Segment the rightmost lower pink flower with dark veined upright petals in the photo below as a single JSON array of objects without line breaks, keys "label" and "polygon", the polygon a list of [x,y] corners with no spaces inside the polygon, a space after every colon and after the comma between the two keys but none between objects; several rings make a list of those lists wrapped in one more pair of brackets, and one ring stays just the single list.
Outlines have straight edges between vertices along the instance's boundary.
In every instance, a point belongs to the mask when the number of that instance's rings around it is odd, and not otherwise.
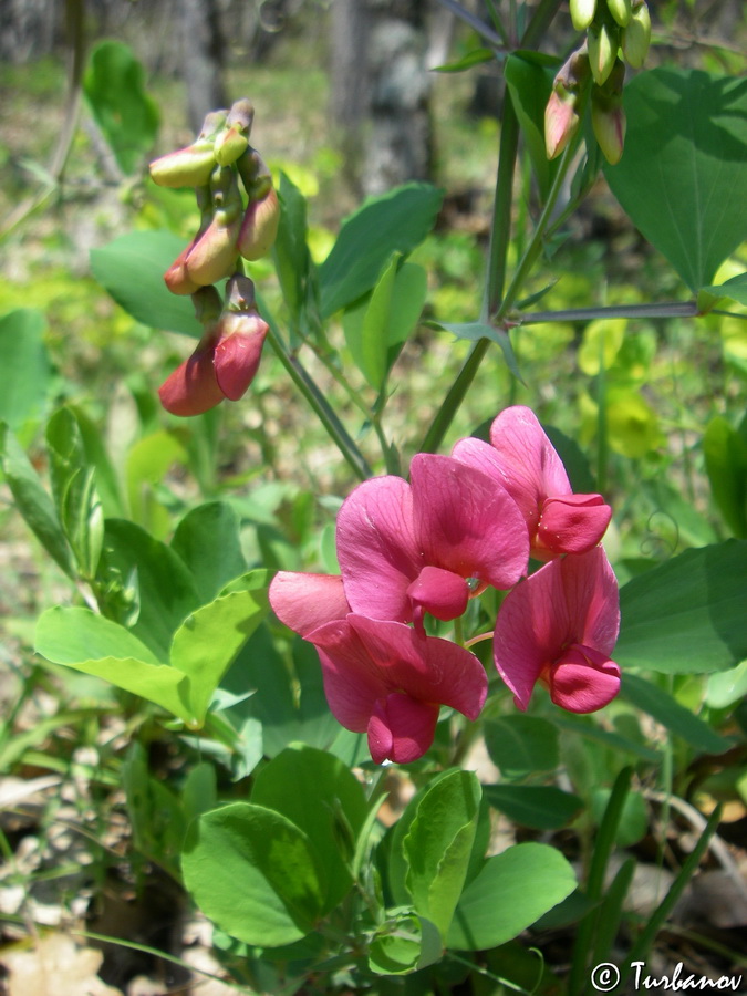
[{"label": "rightmost lower pink flower with dark veined upright petals", "polygon": [[540,681],[556,705],[593,713],[620,689],[620,667],[610,660],[619,629],[618,582],[594,547],[544,564],[506,596],[496,666],[522,710]]}]

